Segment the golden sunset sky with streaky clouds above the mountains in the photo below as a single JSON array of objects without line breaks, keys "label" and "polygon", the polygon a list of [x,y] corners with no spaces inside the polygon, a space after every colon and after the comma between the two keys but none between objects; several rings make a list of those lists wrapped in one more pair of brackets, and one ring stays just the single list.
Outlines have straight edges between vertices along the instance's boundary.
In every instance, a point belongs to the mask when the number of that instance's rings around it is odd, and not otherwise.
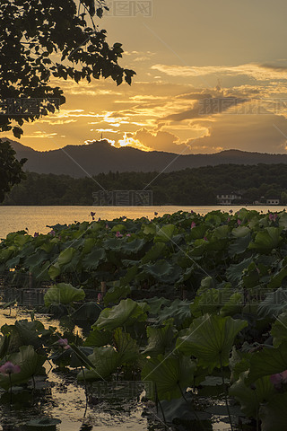
[{"label": "golden sunset sky with streaky clouds above the mountains", "polygon": [[146,151],[286,153],[285,0],[107,3],[100,28],[123,43],[120,64],[135,70],[133,84],[58,81],[65,105],[25,124],[23,145],[45,151],[102,133],[111,145]]}]

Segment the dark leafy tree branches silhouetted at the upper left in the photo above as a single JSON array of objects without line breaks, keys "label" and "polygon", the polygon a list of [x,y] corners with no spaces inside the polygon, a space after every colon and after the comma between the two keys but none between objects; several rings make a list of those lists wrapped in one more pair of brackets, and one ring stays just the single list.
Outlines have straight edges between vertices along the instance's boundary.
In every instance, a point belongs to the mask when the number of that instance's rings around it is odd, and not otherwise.
[{"label": "dark leafy tree branches silhouetted at the upper left", "polygon": [[[131,84],[135,72],[118,64],[121,44],[109,46],[106,31],[95,23],[104,9],[103,0],[1,0],[0,132],[12,131],[20,138],[25,121],[65,103],[53,78],[90,83],[92,78],[111,77],[117,85],[123,80]],[[7,144],[0,140],[0,147],[4,154]],[[0,163],[9,169],[3,159]],[[1,182],[0,196],[7,187]]]}]

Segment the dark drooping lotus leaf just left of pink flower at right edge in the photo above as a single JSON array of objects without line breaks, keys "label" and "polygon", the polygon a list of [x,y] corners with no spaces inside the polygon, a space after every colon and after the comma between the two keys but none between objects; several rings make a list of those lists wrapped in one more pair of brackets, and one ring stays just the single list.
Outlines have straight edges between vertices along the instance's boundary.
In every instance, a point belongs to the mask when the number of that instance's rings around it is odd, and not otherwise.
[{"label": "dark drooping lotus leaf just left of pink flower at right edge", "polygon": [[230,395],[239,401],[242,412],[248,416],[257,418],[257,412],[261,403],[272,400],[275,395],[274,385],[270,382],[270,376],[261,377],[255,383],[255,389],[251,389],[245,383],[248,371],[241,373],[239,380],[230,386]]}]

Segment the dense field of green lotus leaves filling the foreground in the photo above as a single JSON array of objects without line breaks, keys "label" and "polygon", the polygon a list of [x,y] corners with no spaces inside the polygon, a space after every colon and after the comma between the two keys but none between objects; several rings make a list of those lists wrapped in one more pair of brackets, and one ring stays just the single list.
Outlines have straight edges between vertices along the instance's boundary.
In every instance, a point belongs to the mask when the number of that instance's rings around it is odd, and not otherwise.
[{"label": "dense field of green lotus leaves filling the foreground", "polygon": [[179,211],[10,233],[0,272],[48,286],[40,312],[85,322],[63,335],[32,312],[1,328],[11,403],[13,387],[49,361],[76,374],[87,400],[100,382],[138,383],[160,418],[151,429],[212,430],[204,397],[216,392],[225,429],[286,431],[285,212]]}]

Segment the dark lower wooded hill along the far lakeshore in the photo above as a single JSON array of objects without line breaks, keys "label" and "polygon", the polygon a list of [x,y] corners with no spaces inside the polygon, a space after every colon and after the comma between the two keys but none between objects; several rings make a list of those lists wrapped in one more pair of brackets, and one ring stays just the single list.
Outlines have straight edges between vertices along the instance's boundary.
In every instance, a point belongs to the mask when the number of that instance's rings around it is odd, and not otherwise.
[{"label": "dark lower wooded hill along the far lakeshore", "polygon": [[[4,205],[92,205],[100,190],[152,190],[154,205],[213,205],[216,195],[240,192],[240,203],[280,198],[287,204],[287,164],[222,164],[178,172],[109,172],[74,179],[29,172]],[[264,200],[264,199],[263,199]]]}]

